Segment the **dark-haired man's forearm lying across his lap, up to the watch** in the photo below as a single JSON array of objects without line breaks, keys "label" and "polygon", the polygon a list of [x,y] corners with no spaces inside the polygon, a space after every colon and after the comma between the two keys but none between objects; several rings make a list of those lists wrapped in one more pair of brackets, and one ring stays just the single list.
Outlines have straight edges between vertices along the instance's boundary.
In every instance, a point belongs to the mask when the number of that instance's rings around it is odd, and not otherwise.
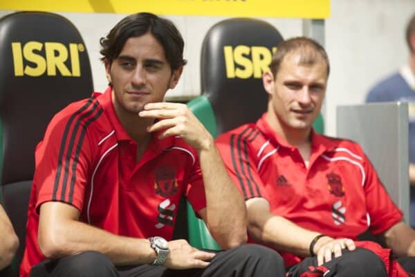
[{"label": "dark-haired man's forearm lying across his lap, up to the watch", "polygon": [[75,220],[63,220],[54,225],[47,233],[42,233],[39,228],[39,247],[46,258],[98,251],[107,255],[115,265],[147,264],[156,259],[147,239],[114,235]]}]

